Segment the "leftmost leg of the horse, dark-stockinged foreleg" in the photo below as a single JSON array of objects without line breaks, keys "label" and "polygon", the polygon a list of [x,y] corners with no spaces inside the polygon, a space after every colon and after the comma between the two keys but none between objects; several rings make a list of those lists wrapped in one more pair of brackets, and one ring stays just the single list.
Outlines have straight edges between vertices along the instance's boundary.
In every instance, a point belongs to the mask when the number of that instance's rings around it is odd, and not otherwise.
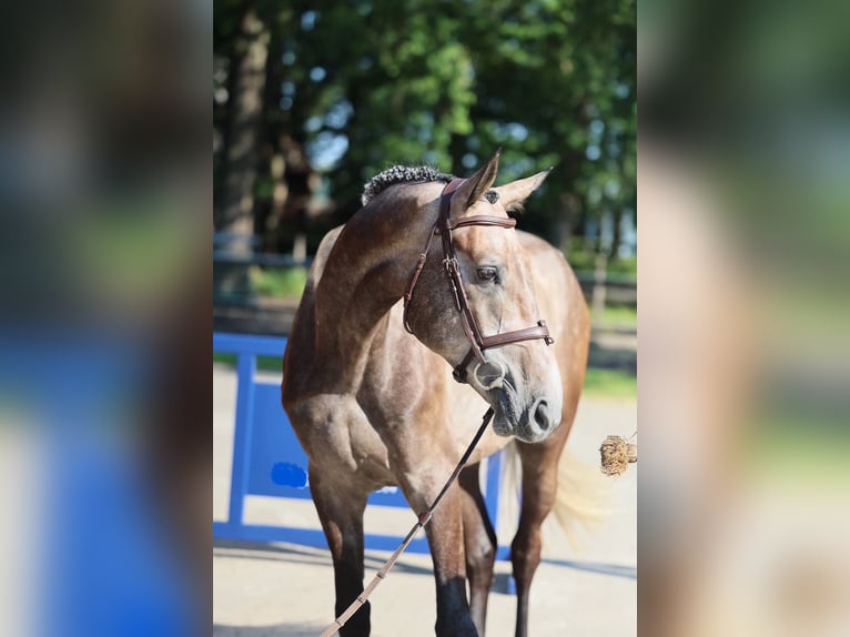
[{"label": "leftmost leg of the horse, dark-stockinged foreleg", "polygon": [[[330,481],[320,471],[310,469],[310,491],[327,538],[334,564],[338,617],[363,593],[363,512],[367,494],[346,481]],[[342,637],[368,637],[370,604],[366,601],[342,627]]]}]

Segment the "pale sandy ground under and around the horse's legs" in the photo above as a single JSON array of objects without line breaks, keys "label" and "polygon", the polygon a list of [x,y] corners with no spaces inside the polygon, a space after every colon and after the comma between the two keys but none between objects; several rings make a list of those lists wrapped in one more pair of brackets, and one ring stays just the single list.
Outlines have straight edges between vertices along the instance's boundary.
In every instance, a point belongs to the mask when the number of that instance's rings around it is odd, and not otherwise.
[{"label": "pale sandy ground under and around the horse's legs", "polygon": [[[235,410],[235,374],[213,367],[213,517],[224,519],[229,497]],[[608,434],[629,436],[637,426],[634,402],[584,400],[568,448],[596,465]],[[532,587],[534,637],[624,637],[637,631],[637,466],[618,478],[604,478],[611,513],[580,538],[574,549],[553,520],[544,527],[544,562]],[[366,530],[403,535],[413,514],[374,507]],[[504,519],[506,516],[502,516]],[[246,520],[318,528],[310,502],[250,498]],[[512,529],[499,525],[499,543]],[[366,552],[366,578],[387,557]],[[510,564],[496,565],[487,635],[514,634],[516,598],[507,594]],[[216,542],[213,549],[213,635],[216,637],[317,636],[333,620],[333,574],[326,550],[275,544]],[[434,635],[436,610],[431,558],[403,555],[372,596],[376,637]]]}]

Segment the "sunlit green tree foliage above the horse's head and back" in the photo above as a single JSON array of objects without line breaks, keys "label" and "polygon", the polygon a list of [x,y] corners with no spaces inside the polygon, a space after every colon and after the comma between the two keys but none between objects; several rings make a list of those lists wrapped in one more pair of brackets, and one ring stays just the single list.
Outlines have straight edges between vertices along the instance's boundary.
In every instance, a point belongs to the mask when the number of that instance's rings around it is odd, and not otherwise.
[{"label": "sunlit green tree foliage above the horse's head and back", "polygon": [[[216,85],[245,4],[216,2]],[[522,224],[556,243],[588,215],[636,208],[635,0],[255,7],[272,33],[269,144],[305,144],[337,221],[389,164],[466,175],[499,146],[499,182],[555,166]]]}]

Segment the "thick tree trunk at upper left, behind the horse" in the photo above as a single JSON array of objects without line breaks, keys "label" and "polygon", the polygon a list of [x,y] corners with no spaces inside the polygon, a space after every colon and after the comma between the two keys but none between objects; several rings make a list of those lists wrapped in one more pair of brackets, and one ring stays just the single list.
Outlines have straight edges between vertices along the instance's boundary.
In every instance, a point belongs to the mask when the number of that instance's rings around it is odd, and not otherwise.
[{"label": "thick tree trunk at upper left, behind the horse", "polygon": [[[222,201],[216,230],[226,233],[220,245],[232,254],[250,255],[254,234],[254,182],[260,155],[260,129],[263,120],[265,62],[269,55],[269,31],[257,18],[253,2],[244,6],[236,44],[237,63],[231,85],[230,113],[222,174]],[[241,57],[239,57],[241,53]],[[234,60],[234,62],[236,61]],[[245,265],[220,264],[214,272],[216,295],[244,296],[249,292]]]}]

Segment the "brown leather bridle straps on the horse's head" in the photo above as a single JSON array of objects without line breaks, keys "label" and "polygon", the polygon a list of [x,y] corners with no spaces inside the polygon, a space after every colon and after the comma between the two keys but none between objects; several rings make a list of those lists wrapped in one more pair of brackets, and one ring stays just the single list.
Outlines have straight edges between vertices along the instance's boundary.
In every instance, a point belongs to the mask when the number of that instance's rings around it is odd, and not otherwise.
[{"label": "brown leather bridle straps on the horse's head", "polygon": [[404,295],[404,327],[407,332],[413,334],[413,330],[411,330],[411,325],[407,323],[407,312],[411,306],[411,300],[413,299],[413,291],[416,287],[416,282],[419,280],[419,274],[422,274],[422,270],[425,266],[425,260],[427,259],[428,250],[431,249],[431,241],[434,239],[435,234],[439,234],[439,237],[443,241],[443,267],[445,269],[446,276],[452,285],[452,293],[455,296],[455,305],[457,306],[458,312],[461,312],[461,324],[464,327],[464,333],[470,345],[469,352],[464,356],[461,364],[452,372],[452,375],[458,383],[466,382],[466,367],[473,362],[473,358],[478,358],[482,363],[485,362],[484,350],[502,347],[522,341],[534,341],[536,338],[543,338],[547,345],[552,345],[555,342],[552,336],[549,336],[549,328],[544,321],[538,321],[537,325],[534,327],[524,327],[523,330],[503,332],[492,336],[482,334],[478,323],[475,320],[475,315],[469,307],[469,300],[466,296],[466,291],[464,290],[461,265],[457,262],[457,253],[455,252],[455,246],[452,242],[452,231],[457,230],[458,228],[466,228],[467,225],[493,225],[510,229],[516,225],[516,220],[476,214],[457,221],[452,221],[449,218],[452,196],[464,181],[466,180],[454,179],[443,189],[443,193],[439,196],[439,216],[434,224],[434,231],[428,236],[428,243],[425,245],[425,250],[419,254],[416,270],[411,277],[407,293]]}]

